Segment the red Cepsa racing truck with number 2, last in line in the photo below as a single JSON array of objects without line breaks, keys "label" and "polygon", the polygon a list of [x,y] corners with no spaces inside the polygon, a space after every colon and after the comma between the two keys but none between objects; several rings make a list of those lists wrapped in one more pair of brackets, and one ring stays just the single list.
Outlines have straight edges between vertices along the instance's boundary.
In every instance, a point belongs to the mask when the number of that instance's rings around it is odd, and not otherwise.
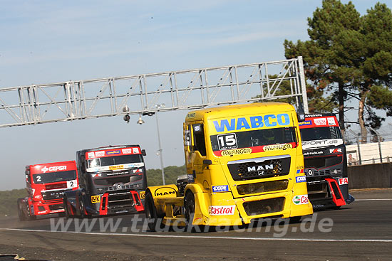
[{"label": "red Cepsa racing truck with number 2, last in line", "polygon": [[29,196],[18,199],[19,220],[34,220],[53,213],[62,215],[63,193],[78,188],[76,162],[29,165],[25,173]]}]

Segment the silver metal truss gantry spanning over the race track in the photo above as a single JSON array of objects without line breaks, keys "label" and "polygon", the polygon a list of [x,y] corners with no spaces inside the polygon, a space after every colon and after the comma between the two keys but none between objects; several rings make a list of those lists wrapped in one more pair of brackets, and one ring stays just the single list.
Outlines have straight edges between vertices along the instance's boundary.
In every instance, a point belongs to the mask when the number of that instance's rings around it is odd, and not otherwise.
[{"label": "silver metal truss gantry spanning over the race track", "polygon": [[[0,127],[287,97],[294,97],[297,107],[302,102],[308,112],[301,56],[266,63],[1,88]],[[127,112],[123,110],[125,105]]]}]

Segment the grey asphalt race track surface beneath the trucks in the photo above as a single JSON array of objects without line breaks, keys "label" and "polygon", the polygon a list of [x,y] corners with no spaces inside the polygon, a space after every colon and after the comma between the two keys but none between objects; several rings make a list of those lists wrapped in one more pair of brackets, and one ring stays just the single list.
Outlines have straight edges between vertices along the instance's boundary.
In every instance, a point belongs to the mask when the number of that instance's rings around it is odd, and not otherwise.
[{"label": "grey asphalt race track surface beneath the trucks", "polygon": [[349,206],[315,212],[302,223],[205,233],[150,232],[144,215],[1,219],[0,254],[26,260],[392,260],[392,189],[351,194],[356,201]]}]

